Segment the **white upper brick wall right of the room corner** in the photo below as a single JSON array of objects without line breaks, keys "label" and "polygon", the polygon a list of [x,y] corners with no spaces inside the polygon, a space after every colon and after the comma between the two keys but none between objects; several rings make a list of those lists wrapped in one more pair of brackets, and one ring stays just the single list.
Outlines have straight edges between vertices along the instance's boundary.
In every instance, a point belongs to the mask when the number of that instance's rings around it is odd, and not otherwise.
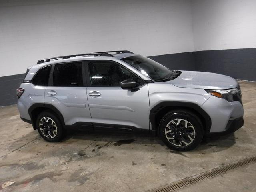
[{"label": "white upper brick wall right of the room corner", "polygon": [[195,51],[256,47],[256,0],[192,0]]}]

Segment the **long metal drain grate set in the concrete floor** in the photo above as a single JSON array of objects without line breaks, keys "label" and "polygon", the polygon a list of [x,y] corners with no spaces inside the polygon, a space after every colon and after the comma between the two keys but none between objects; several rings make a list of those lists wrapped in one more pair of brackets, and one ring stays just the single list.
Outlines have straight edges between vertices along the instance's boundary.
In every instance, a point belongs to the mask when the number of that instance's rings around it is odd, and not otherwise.
[{"label": "long metal drain grate set in the concrete floor", "polygon": [[245,159],[242,159],[242,160],[239,160],[239,161],[236,161],[236,162],[232,162],[232,163],[227,164],[225,166],[214,168],[212,170],[200,173],[198,175],[194,175],[194,176],[188,177],[186,179],[179,180],[177,182],[162,186],[160,188],[149,190],[148,192],[172,192],[172,191],[176,191],[176,190],[179,190],[181,188],[191,186],[191,185],[196,184],[198,182],[201,182],[203,180],[210,179],[210,178],[216,177],[218,175],[225,174],[225,173],[227,173],[227,172],[229,172],[233,169],[236,169],[236,168],[239,168],[239,167],[242,167],[242,166],[246,166],[246,165],[249,165],[249,164],[252,164],[252,163],[255,163],[255,162],[256,162],[256,156],[245,158]]}]

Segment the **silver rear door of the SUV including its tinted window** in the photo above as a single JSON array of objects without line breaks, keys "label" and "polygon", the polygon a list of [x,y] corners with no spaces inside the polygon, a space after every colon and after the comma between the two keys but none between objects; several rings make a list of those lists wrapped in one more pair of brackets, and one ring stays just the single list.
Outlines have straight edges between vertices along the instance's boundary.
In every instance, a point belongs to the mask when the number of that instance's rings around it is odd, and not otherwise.
[{"label": "silver rear door of the SUV including its tinted window", "polygon": [[55,106],[63,115],[66,125],[81,122],[92,125],[83,62],[53,65],[44,95],[44,103]]}]

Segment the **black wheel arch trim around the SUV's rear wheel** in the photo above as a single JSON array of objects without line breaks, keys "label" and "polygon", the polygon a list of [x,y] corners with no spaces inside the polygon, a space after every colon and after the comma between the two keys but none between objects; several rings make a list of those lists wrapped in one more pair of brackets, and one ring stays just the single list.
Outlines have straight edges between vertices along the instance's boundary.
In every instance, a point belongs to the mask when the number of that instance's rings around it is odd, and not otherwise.
[{"label": "black wheel arch trim around the SUV's rear wheel", "polygon": [[28,109],[28,114],[31,118],[34,130],[36,130],[36,117],[42,111],[45,111],[45,110],[52,111],[56,116],[58,116],[62,125],[65,125],[64,117],[62,116],[62,114],[56,107],[54,107],[51,104],[37,103],[37,104],[33,104],[32,106],[30,106],[30,108]]}]

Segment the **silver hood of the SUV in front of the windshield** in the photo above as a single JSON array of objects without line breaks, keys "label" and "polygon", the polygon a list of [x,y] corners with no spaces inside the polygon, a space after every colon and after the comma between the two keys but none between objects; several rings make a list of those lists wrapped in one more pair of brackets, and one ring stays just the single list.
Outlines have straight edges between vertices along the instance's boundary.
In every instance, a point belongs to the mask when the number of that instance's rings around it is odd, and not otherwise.
[{"label": "silver hood of the SUV in front of the windshield", "polygon": [[163,83],[171,83],[174,86],[184,88],[218,90],[236,88],[237,86],[236,80],[230,76],[198,71],[181,72],[180,76],[174,80]]}]

